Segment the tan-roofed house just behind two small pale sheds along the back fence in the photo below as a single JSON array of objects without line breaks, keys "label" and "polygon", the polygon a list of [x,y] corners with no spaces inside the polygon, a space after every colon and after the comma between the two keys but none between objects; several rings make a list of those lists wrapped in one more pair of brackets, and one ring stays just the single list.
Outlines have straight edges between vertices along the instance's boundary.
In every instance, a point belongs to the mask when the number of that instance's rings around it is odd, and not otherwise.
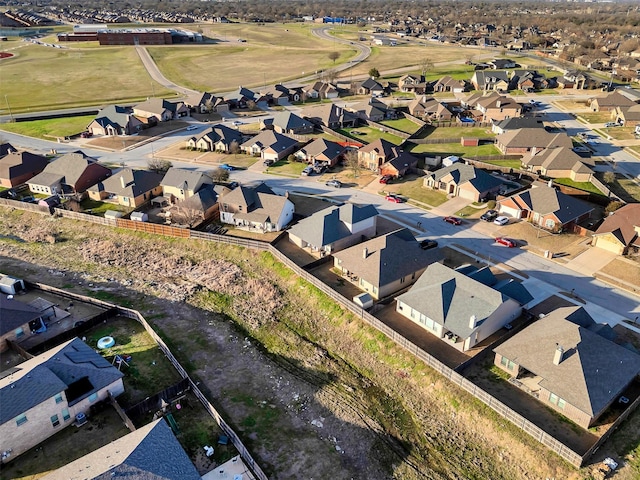
[{"label": "tan-roofed house just behind two small pale sheds along the back fence", "polygon": [[162,178],[161,173],[122,168],[89,187],[87,193],[92,200],[107,200],[124,207],[138,208],[153,197],[162,195]]}]

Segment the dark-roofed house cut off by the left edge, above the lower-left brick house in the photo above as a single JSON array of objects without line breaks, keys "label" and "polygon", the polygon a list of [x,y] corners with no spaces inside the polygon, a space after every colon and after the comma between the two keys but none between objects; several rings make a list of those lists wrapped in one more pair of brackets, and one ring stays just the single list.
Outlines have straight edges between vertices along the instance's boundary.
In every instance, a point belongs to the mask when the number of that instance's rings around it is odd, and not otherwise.
[{"label": "dark-roofed house cut off by the left edge, above the lower-left brick house", "polygon": [[0,295],[0,352],[9,349],[7,340],[16,342],[46,330],[39,309],[7,295]]}]

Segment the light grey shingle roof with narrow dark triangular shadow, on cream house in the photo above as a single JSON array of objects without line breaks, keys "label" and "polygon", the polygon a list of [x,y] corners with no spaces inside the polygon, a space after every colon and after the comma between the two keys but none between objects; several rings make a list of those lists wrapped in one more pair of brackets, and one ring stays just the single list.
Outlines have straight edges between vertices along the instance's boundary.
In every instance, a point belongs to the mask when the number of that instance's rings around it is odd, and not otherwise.
[{"label": "light grey shingle roof with narrow dark triangular shadow, on cream house", "polygon": [[474,331],[469,328],[472,315],[480,326],[508,300],[507,295],[440,263],[429,265],[415,285],[398,297],[461,338]]}]

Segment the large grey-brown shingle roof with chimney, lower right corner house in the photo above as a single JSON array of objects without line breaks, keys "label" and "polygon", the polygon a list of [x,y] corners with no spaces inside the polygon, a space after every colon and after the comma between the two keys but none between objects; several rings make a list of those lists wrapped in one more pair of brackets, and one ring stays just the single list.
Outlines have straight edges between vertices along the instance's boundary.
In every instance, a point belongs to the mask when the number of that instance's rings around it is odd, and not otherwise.
[{"label": "large grey-brown shingle roof with chimney, lower right corner house", "polygon": [[[576,313],[579,323],[570,320]],[[640,372],[640,356],[586,328],[585,316],[582,307],[559,308],[494,352],[541,376],[541,387],[596,416]],[[554,365],[557,345],[565,353]]]}]

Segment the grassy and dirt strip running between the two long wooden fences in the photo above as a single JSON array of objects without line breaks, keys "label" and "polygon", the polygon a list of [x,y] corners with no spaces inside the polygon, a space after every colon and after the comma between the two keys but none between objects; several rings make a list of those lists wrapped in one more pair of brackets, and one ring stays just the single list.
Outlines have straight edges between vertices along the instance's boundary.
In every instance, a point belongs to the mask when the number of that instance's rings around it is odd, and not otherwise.
[{"label": "grassy and dirt strip running between the two long wooden fences", "polygon": [[[7,237],[36,229],[59,241]],[[583,478],[268,254],[0,209],[0,257],[135,305],[270,478]]]}]

